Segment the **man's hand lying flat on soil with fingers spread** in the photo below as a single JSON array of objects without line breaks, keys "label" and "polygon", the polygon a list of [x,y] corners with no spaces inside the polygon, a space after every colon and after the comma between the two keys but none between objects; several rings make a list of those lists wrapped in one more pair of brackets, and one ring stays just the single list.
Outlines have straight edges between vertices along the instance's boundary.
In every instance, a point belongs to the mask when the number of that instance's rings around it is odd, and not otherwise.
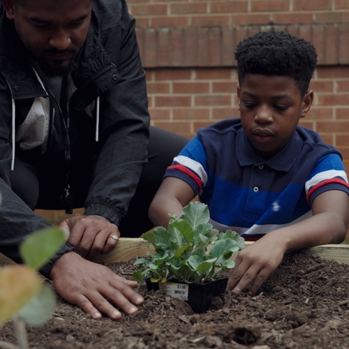
[{"label": "man's hand lying flat on soil with fingers spread", "polygon": [[54,263],[50,274],[57,293],[71,304],[79,306],[94,319],[102,313],[114,320],[121,312],[135,314],[144,299],[135,292],[135,281],[127,281],[104,265],[98,265],[69,252]]}]

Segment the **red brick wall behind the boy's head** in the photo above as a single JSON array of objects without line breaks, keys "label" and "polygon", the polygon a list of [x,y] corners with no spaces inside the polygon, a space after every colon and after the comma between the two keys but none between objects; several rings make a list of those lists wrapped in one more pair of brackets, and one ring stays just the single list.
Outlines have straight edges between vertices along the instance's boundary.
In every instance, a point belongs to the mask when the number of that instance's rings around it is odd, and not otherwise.
[{"label": "red brick wall behind the boy's head", "polygon": [[313,107],[301,124],[338,147],[349,172],[349,0],[128,0],[147,72],[152,124],[195,135],[237,117],[237,43],[268,29],[318,52]]}]

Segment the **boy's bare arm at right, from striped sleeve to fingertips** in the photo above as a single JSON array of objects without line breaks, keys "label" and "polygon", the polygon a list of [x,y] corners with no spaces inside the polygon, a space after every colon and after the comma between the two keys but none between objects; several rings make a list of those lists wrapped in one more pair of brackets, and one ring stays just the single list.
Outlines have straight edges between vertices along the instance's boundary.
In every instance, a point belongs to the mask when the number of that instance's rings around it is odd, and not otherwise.
[{"label": "boy's bare arm at right, from striped sleeve to fingertips", "polygon": [[312,210],[310,218],[269,232],[240,251],[228,288],[239,293],[252,282],[248,293],[253,295],[279,266],[285,252],[343,242],[348,228],[348,194],[325,191],[315,198]]}]

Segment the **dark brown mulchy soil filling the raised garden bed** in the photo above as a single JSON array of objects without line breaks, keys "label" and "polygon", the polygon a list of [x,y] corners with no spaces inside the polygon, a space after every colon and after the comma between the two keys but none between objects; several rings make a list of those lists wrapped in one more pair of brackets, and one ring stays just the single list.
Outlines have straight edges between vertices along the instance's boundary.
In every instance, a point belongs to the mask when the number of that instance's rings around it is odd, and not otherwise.
[{"label": "dark brown mulchy soil filling the raised garden bed", "polygon": [[[132,263],[109,265],[131,278]],[[349,348],[349,265],[290,253],[255,297],[226,291],[209,311],[140,286],[144,305],[121,320],[92,320],[58,299],[46,325],[27,328],[31,348]],[[15,343],[11,322],[0,341]]]}]

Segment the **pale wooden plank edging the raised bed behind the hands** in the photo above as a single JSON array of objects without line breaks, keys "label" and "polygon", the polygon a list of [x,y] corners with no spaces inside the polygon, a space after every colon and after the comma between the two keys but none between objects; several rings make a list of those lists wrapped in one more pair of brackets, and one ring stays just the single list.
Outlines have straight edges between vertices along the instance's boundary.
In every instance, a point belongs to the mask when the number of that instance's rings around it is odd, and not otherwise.
[{"label": "pale wooden plank edging the raised bed behind the hands", "polygon": [[[246,242],[253,244],[253,242]],[[105,255],[99,255],[95,262],[103,262],[105,264],[112,262],[128,262],[133,258],[144,257],[147,255],[147,251],[154,251],[153,246],[149,242],[145,242],[142,238],[127,238],[122,237],[119,239],[117,247],[113,251]],[[312,248],[306,248],[302,250],[302,253],[309,253],[318,255],[326,260],[336,260],[340,263],[349,265],[349,244],[329,244],[316,246]],[[232,255],[235,258],[237,253]],[[8,258],[0,253],[0,264],[8,262]]]}]

